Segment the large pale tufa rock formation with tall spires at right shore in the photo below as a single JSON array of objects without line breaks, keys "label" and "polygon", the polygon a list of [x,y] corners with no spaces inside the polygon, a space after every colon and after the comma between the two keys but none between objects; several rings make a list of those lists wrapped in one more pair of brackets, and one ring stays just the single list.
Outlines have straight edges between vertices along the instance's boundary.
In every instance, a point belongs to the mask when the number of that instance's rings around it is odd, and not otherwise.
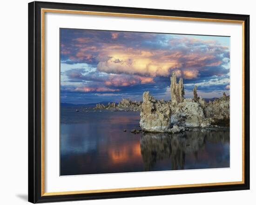
[{"label": "large pale tufa rock formation with tall spires at right shore", "polygon": [[171,100],[156,100],[149,92],[143,93],[140,126],[148,132],[179,133],[188,128],[229,127],[229,96],[206,102],[197,96],[184,98],[183,80],[176,83],[171,77]]}]

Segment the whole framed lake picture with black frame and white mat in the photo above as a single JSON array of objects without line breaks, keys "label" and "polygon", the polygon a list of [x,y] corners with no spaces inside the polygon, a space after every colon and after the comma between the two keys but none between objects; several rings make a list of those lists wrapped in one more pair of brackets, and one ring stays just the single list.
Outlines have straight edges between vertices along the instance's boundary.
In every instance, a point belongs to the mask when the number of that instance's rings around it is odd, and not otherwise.
[{"label": "whole framed lake picture with black frame and white mat", "polygon": [[249,15],[28,4],[28,201],[249,189]]}]

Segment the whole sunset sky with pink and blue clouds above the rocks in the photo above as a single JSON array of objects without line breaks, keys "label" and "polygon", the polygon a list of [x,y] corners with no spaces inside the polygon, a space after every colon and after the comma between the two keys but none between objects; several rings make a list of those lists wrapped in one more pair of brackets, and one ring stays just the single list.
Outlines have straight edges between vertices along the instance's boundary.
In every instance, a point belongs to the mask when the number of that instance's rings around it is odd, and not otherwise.
[{"label": "whole sunset sky with pink and blue clouds above the rocks", "polygon": [[230,38],[60,29],[61,103],[141,101],[144,91],[170,100],[170,77],[185,97],[229,95]]}]

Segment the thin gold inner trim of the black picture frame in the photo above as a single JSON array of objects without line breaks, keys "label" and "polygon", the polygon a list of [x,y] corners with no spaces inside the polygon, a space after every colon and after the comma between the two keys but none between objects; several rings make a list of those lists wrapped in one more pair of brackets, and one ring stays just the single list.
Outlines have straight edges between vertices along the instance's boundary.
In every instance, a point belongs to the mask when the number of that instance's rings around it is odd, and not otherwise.
[{"label": "thin gold inner trim of the black picture frame", "polygon": [[[170,20],[191,20],[191,21],[207,21],[221,23],[237,23],[242,24],[242,90],[243,90],[243,105],[242,105],[242,181],[232,182],[216,182],[203,184],[186,184],[186,185],[170,185],[170,186],[146,186],[132,188],[115,188],[115,189],[100,189],[100,190],[83,190],[83,191],[68,191],[68,192],[45,192],[45,13],[67,13],[67,14],[87,14],[101,16],[118,16],[118,17],[135,17],[135,18],[150,18],[150,19],[170,19]],[[229,19],[204,19],[191,17],[175,17],[161,15],[145,15],[131,13],[108,13],[108,12],[91,12],[91,11],[74,11],[60,9],[41,9],[41,196],[67,195],[67,194],[83,194],[83,193],[103,193],[103,192],[123,192],[123,191],[138,191],[138,190],[153,190],[153,189],[170,189],[184,187],[199,187],[199,186],[224,186],[244,184],[244,21],[229,20]]]}]

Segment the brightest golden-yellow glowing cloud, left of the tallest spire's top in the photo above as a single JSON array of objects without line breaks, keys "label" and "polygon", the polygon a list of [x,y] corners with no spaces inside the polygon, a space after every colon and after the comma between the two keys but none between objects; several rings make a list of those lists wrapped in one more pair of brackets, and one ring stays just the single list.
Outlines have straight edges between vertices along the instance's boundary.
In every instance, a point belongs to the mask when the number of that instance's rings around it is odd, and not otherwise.
[{"label": "brightest golden-yellow glowing cloud, left of the tallest spire's top", "polygon": [[182,64],[172,59],[161,59],[162,51],[149,52],[121,48],[120,51],[103,55],[110,56],[106,61],[100,61],[97,69],[107,73],[138,74],[150,77],[168,76],[171,69]]}]

